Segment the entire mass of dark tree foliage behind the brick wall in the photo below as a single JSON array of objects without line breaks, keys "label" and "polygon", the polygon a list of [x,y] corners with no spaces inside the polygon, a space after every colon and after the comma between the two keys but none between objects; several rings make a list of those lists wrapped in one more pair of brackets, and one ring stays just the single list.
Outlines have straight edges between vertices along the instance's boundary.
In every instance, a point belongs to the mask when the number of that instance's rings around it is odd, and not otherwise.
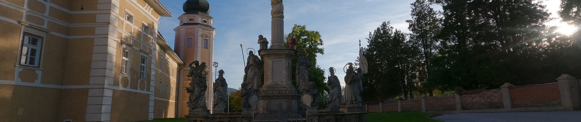
[{"label": "entire mass of dark tree foliage behind the brick wall", "polygon": [[[579,28],[580,6],[562,0],[563,21]],[[538,1],[416,0],[411,8],[410,34],[389,22],[370,32],[366,101],[551,83],[561,73],[581,77],[580,29],[562,35],[548,27],[550,14]]]}]

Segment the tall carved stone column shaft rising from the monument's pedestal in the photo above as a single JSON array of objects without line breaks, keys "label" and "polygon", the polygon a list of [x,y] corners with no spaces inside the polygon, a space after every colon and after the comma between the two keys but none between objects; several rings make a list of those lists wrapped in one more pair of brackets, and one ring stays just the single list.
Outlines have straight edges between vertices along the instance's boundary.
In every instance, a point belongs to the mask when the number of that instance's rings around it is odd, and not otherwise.
[{"label": "tall carved stone column shaft rising from the monument's pedestal", "polygon": [[282,0],[270,0],[272,10],[272,25],[271,25],[271,33],[272,33],[272,40],[270,49],[286,49],[284,47],[284,5],[282,5]]}]

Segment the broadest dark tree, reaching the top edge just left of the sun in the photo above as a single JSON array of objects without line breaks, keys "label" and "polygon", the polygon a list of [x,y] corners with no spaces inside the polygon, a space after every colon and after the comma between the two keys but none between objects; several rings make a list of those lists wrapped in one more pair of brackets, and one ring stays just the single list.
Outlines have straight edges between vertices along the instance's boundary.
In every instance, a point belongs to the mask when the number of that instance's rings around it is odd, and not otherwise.
[{"label": "broadest dark tree, reaching the top edge just left of the sun", "polygon": [[[497,88],[539,81],[549,14],[533,0],[437,1],[443,7],[442,48],[433,82],[441,90]],[[432,81],[431,81],[432,82]]]}]

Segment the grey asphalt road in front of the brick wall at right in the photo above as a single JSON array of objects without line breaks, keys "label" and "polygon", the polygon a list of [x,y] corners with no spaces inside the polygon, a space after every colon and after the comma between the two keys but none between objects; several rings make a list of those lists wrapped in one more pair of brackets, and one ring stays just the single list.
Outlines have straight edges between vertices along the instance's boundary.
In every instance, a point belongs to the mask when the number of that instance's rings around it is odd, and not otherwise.
[{"label": "grey asphalt road in front of the brick wall at right", "polygon": [[432,117],[445,122],[579,122],[581,111],[458,113]]}]

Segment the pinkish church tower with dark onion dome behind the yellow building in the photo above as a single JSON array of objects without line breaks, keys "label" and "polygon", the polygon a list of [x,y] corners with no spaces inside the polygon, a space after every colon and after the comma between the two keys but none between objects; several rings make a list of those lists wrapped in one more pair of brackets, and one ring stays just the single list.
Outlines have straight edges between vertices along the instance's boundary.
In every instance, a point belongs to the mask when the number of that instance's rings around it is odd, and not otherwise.
[{"label": "pinkish church tower with dark onion dome behind the yellow building", "polygon": [[[184,64],[192,61],[206,62],[206,107],[211,110],[213,105],[213,82],[214,82],[214,34],[216,28],[212,27],[214,22],[210,14],[210,4],[206,0],[188,0],[184,2],[184,14],[178,19],[180,26],[174,28],[175,31],[175,53],[181,58]],[[189,66],[185,66],[180,71],[180,94],[178,94],[178,110],[180,117],[188,114],[188,93],[191,77],[187,77]]]}]

